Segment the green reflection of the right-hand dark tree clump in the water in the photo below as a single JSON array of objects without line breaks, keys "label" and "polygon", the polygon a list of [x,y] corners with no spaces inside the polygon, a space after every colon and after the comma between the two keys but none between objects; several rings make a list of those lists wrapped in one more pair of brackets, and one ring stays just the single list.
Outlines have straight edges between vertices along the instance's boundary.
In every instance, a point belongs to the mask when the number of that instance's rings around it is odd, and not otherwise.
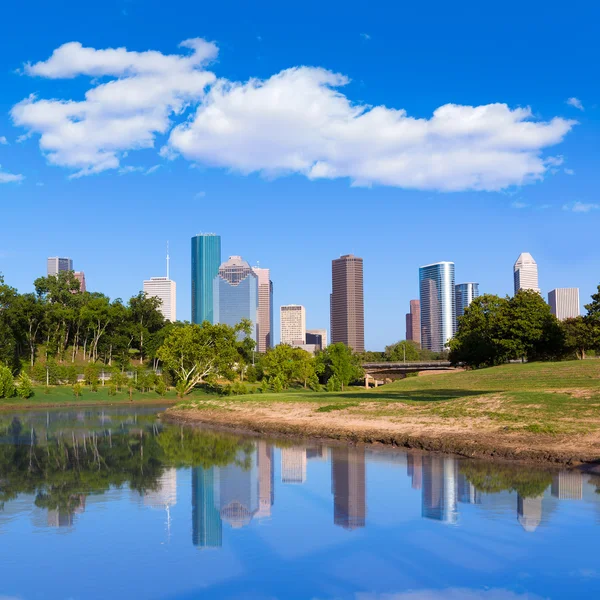
[{"label": "green reflection of the right-hand dark tree clump in the water", "polygon": [[522,470],[512,465],[484,462],[463,462],[460,472],[480,492],[497,494],[502,491],[517,492],[523,498],[541,496],[552,483],[552,473]]}]

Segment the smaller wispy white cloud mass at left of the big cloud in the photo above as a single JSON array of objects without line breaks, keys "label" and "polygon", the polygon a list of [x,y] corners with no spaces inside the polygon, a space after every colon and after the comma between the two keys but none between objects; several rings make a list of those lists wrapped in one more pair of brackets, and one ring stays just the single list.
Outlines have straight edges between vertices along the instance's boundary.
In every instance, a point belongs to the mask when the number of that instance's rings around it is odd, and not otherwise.
[{"label": "smaller wispy white cloud mass at left of the big cloud", "polygon": [[156,134],[171,128],[171,117],[199,101],[215,76],[204,70],[217,48],[201,39],[181,44],[186,55],[96,50],[64,44],[44,62],[25,65],[28,75],[109,77],[85,100],[26,98],[11,110],[16,125],[40,134],[51,164],[76,169],[73,177],[117,169],[127,150],[151,148]]}]

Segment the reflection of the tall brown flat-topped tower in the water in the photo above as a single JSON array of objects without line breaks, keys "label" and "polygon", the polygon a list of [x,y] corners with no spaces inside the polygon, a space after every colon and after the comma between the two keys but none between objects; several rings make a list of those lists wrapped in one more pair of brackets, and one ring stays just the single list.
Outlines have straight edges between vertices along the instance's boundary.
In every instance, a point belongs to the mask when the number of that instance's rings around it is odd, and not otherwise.
[{"label": "reflection of the tall brown flat-topped tower in the water", "polygon": [[365,449],[331,449],[333,522],[344,529],[365,526]]}]

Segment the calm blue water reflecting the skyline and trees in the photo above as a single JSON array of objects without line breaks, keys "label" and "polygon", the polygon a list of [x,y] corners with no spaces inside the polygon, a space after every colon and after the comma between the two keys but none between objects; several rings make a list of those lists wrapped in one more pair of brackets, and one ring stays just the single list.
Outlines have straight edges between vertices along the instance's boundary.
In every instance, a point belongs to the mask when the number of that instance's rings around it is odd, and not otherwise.
[{"label": "calm blue water reflecting the skyline and trees", "polygon": [[600,594],[578,472],[0,413],[0,598],[538,600]]}]

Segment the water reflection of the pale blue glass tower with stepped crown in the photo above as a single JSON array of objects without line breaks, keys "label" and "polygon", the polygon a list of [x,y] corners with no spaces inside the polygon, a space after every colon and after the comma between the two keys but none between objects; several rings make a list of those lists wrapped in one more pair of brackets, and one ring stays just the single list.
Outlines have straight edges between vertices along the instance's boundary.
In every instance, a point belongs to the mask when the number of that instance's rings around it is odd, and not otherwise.
[{"label": "water reflection of the pale blue glass tower with stepped crown", "polygon": [[244,467],[232,463],[217,471],[221,519],[235,529],[249,525],[259,508],[256,452],[237,458]]}]

